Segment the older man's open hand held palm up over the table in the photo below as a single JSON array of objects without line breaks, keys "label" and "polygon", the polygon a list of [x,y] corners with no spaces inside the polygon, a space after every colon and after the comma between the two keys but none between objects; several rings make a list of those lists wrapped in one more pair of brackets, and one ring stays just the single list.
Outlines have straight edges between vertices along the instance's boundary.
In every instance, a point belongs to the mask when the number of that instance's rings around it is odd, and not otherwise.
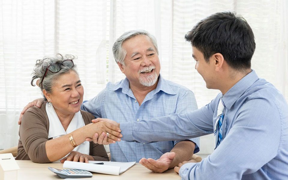
[{"label": "older man's open hand held palm up over the table", "polygon": [[155,173],[163,173],[169,169],[175,155],[175,152],[166,152],[157,160],[152,158],[142,158],[140,159],[139,163]]}]

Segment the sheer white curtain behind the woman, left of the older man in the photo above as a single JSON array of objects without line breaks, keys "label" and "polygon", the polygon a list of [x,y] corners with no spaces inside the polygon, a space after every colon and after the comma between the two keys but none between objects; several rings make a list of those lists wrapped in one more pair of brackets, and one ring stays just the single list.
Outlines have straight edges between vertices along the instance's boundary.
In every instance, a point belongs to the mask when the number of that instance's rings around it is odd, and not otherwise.
[{"label": "sheer white curtain behind the woman, left of the older man", "polygon": [[30,85],[37,59],[77,55],[85,99],[105,87],[106,26],[105,0],[0,0],[0,149],[17,145],[19,113],[41,97]]}]

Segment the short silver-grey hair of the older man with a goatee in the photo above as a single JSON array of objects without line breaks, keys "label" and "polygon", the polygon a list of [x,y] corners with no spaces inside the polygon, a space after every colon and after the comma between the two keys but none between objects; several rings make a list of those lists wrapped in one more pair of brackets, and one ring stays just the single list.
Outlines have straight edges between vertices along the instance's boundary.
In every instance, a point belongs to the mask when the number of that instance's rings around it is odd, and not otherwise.
[{"label": "short silver-grey hair of the older man with a goatee", "polygon": [[150,34],[146,30],[130,30],[122,34],[118,39],[116,39],[116,41],[113,44],[112,51],[113,51],[114,59],[117,63],[120,62],[122,65],[125,65],[124,59],[125,59],[127,52],[122,47],[122,45],[126,40],[132,37],[138,36],[138,35],[148,36],[152,44],[154,45],[157,54],[159,54],[156,38],[152,34]]}]

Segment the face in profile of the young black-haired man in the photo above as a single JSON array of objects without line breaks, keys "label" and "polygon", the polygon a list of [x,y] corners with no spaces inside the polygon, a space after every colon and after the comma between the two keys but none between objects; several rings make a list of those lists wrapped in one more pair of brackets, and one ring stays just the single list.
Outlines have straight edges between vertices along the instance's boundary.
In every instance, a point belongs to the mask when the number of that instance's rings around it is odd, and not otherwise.
[{"label": "face in profile of the young black-haired man", "polygon": [[214,66],[213,63],[210,63],[211,60],[209,59],[209,62],[205,61],[204,55],[201,51],[199,51],[197,48],[192,46],[192,52],[193,52],[193,58],[196,61],[195,69],[198,71],[198,73],[203,77],[206,87],[208,89],[214,89],[213,84],[215,82],[214,78]]}]

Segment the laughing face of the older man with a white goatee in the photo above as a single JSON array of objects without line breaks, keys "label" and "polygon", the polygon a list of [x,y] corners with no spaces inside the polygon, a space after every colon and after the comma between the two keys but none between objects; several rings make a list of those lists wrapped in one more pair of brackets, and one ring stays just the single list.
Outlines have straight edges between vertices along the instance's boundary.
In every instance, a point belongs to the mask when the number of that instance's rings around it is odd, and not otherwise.
[{"label": "laughing face of the older man with a white goatee", "polygon": [[129,82],[137,87],[155,85],[160,73],[160,61],[149,37],[135,36],[126,40],[122,47],[127,52],[125,65],[118,65]]}]

